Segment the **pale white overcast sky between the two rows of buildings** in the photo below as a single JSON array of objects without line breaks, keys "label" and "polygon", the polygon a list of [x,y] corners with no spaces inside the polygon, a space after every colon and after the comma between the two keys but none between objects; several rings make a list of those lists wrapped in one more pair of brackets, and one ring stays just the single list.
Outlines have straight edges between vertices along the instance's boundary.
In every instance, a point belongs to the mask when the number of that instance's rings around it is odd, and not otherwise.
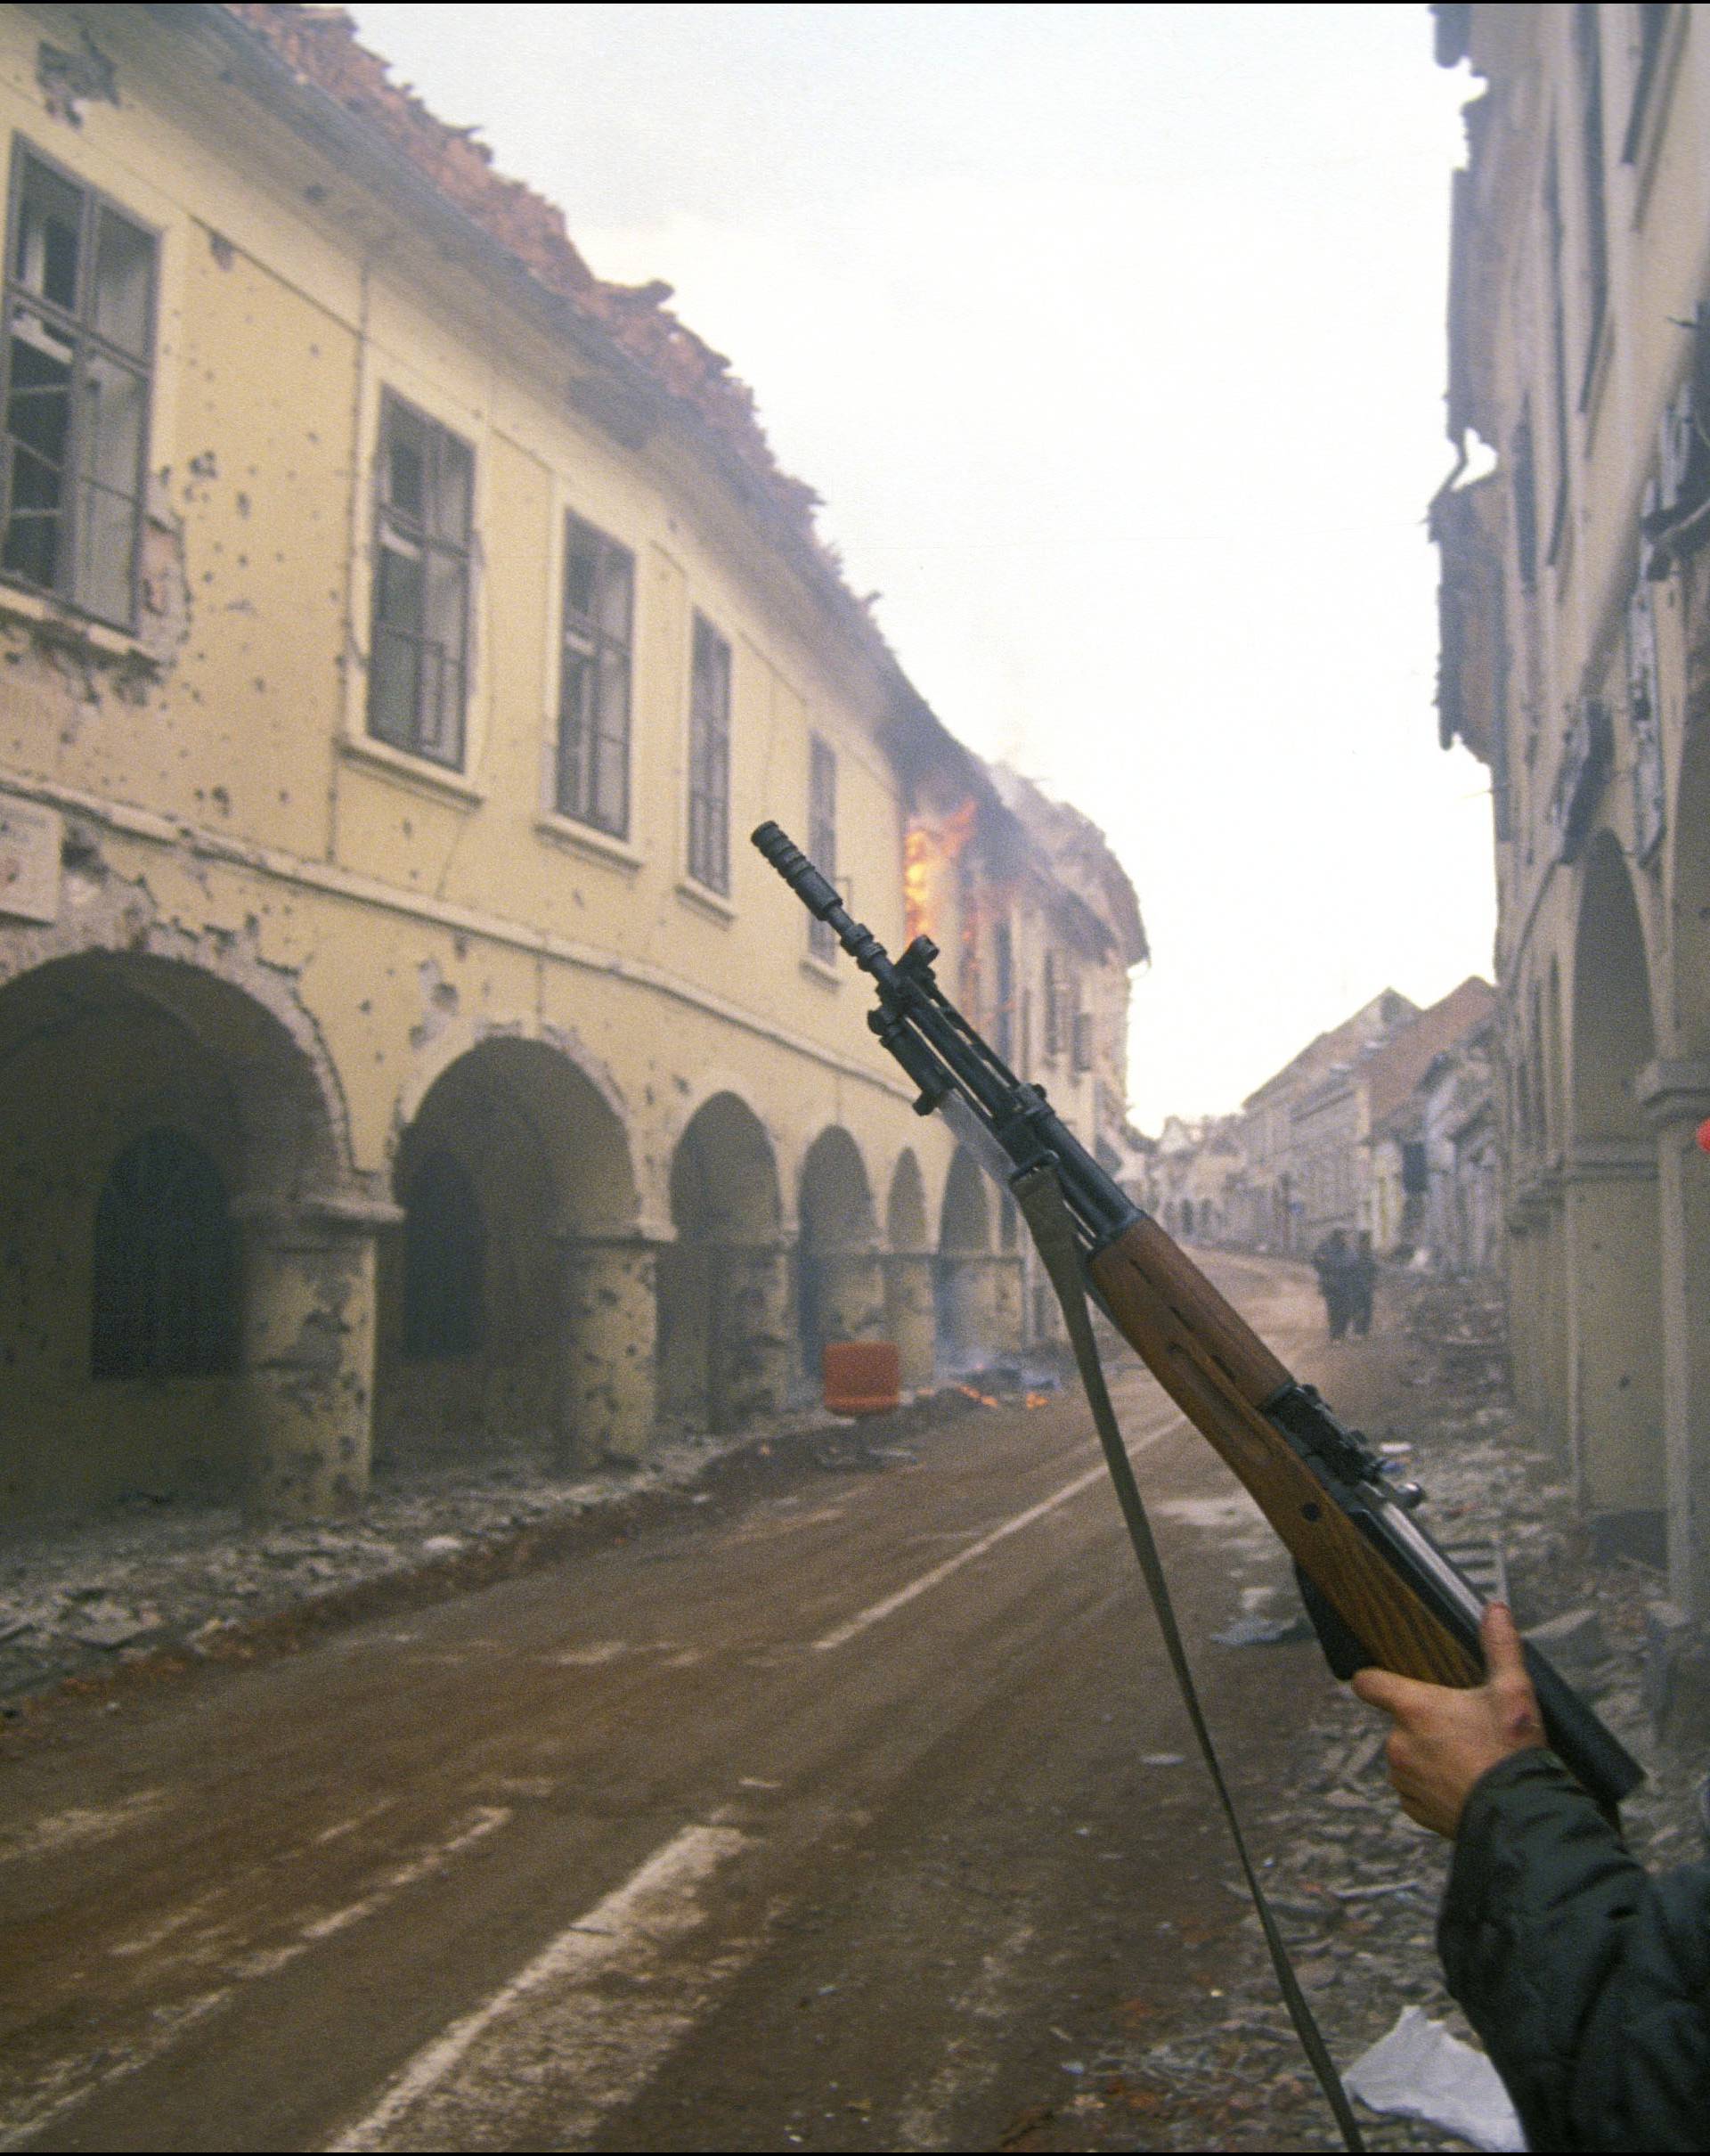
[{"label": "pale white overcast sky between the two rows of buildings", "polygon": [[1108,832],[1132,1102],[1490,970],[1436,746],[1449,168],[1423,6],[354,6],[666,278],[947,724]]}]

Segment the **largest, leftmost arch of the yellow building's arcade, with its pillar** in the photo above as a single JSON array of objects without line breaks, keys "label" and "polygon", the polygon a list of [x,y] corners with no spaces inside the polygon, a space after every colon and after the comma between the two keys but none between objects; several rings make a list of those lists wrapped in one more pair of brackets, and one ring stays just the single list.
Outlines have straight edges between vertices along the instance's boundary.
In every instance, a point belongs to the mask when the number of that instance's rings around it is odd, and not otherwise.
[{"label": "largest, leftmost arch of the yellow building's arcade, with its pillar", "polygon": [[[114,1207],[114,1171],[147,1156],[203,1164],[224,1207],[222,1263],[237,1274],[192,1279],[216,1261],[207,1233],[155,1238],[160,1341],[183,1343],[203,1322],[192,1304],[222,1311],[231,1339],[162,1350],[149,1369],[151,1352],[97,1345],[95,1319],[104,1192]],[[60,1509],[149,1490],[317,1509],[354,1496],[369,1449],[369,1309],[360,1279],[323,1248],[339,1233],[328,1216],[349,1225],[360,1212],[345,1171],[336,1089],[246,990],[110,951],[50,957],[0,985],[0,1498]],[[270,1485],[274,1440],[298,1449],[295,1492]]]}]

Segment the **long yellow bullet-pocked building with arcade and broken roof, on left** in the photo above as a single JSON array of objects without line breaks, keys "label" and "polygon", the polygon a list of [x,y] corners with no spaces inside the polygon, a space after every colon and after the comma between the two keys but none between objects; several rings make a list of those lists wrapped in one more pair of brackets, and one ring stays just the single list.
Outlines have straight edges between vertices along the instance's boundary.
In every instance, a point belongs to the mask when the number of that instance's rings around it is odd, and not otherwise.
[{"label": "long yellow bullet-pocked building with arcade and broken roof, on left", "polygon": [[1132,888],[921,703],[668,293],[339,11],[2,9],[0,99],[4,1503],[323,1514],[1022,1345],[1013,1220],[746,832],[899,946],[966,806],[975,927],[919,925],[1020,1033],[1072,953],[1085,1067],[1016,1050],[1089,1141]]}]

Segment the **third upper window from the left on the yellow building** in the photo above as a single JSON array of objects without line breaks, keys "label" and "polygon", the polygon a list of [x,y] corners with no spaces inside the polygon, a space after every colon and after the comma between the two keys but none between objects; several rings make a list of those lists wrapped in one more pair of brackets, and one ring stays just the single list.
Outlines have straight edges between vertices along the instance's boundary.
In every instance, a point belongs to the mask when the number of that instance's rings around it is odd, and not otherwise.
[{"label": "third upper window from the left on the yellow building", "polygon": [[556,808],[612,839],[630,837],[634,602],[634,554],[567,517]]}]

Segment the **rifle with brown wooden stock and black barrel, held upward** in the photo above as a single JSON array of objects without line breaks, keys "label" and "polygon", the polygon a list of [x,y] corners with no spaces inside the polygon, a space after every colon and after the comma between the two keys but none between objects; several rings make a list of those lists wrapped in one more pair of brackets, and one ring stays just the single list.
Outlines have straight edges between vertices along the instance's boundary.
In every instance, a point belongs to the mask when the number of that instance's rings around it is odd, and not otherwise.
[{"label": "rifle with brown wooden stock and black barrel, held upward", "polygon": [[[776,824],[753,843],[878,985],[867,1024],[934,1108],[1001,1179],[1054,1169],[1091,1296],[1186,1419],[1246,1485],[1290,1550],[1337,1677],[1378,1664],[1428,1684],[1484,1682],[1473,1583],[1415,1518],[1423,1492],[1389,1479],[1361,1432],[1266,1348],[1158,1222],[1113,1181],[1037,1084],[1020,1080],[938,987],[938,946],[899,959],[843,908]],[[1639,1761],[1531,1645],[1544,1733],[1604,1811],[1643,1781]]]}]

